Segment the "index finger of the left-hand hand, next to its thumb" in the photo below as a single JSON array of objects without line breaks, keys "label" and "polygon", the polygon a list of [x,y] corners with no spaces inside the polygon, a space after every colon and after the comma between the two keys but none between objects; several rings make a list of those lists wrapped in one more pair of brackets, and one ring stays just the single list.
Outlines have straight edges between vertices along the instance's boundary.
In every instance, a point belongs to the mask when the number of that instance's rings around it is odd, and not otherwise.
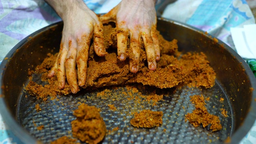
[{"label": "index finger of the left-hand hand, next to its thumb", "polygon": [[90,47],[90,36],[86,36],[84,34],[80,39],[77,40],[77,70],[78,70],[78,84],[79,86],[84,86],[86,82],[86,74],[87,74],[87,61],[88,61],[88,53]]}]

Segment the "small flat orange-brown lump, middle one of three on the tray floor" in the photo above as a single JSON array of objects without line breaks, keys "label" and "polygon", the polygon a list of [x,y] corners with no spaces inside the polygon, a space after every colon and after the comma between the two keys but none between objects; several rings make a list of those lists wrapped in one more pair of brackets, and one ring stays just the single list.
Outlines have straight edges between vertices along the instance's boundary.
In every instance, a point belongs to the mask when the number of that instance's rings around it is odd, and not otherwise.
[{"label": "small flat orange-brown lump, middle one of three on the tray floor", "polygon": [[142,112],[134,114],[134,118],[130,120],[130,123],[137,128],[154,128],[162,125],[162,116],[163,112],[142,110]]}]

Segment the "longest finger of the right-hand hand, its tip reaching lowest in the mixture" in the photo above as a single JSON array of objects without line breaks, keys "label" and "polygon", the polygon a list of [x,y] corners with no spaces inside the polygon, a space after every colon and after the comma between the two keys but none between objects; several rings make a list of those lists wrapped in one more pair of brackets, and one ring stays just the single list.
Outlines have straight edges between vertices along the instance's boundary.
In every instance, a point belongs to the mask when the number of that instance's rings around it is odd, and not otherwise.
[{"label": "longest finger of the right-hand hand, its tip reaching lowest in the mixture", "polygon": [[130,48],[133,53],[130,57],[130,71],[135,73],[138,72],[140,60],[140,37],[136,32],[130,34]]}]

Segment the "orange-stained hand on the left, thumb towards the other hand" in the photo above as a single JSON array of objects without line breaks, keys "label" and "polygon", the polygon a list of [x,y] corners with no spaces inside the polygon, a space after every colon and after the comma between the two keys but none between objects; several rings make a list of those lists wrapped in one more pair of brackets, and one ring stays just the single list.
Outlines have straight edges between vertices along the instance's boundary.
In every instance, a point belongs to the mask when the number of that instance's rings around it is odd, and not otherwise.
[{"label": "orange-stained hand on the left, thumb towards the other hand", "polygon": [[64,88],[67,78],[71,92],[76,93],[78,84],[84,86],[86,82],[88,50],[92,38],[96,54],[105,55],[103,25],[82,0],[46,1],[64,22],[58,59],[48,76],[56,74],[60,89]]}]

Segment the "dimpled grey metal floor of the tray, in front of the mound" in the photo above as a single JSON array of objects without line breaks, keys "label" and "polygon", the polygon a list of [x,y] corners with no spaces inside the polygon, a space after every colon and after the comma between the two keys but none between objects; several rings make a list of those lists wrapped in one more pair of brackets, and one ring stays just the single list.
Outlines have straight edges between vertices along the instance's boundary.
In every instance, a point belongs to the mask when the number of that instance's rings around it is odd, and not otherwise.
[{"label": "dimpled grey metal floor of the tray, in front of the mound", "polygon": [[[134,87],[141,86],[134,85]],[[47,102],[36,100],[24,92],[19,104],[18,120],[32,136],[48,143],[61,136],[72,136],[70,122],[75,119],[73,110],[84,102],[101,110],[100,114],[108,131],[103,143],[218,143],[223,142],[232,134],[232,108],[218,81],[210,89],[186,86],[177,90],[145,88],[139,89],[142,95],[146,96],[156,90],[157,94],[164,95],[164,100],[154,106],[152,102],[143,101],[138,93],[132,92],[126,86],[110,87],[108,88],[110,91],[104,97],[97,96],[97,93],[105,89],[100,88],[93,91],[81,90],[78,94],[68,96],[58,96],[55,100],[48,98]],[[206,101],[206,108],[210,114],[220,117],[222,130],[211,132],[210,126],[195,128],[189,122],[185,122],[185,115],[194,110],[194,104],[190,102],[189,96],[195,94],[202,94],[205,98],[210,97],[210,100]],[[139,98],[135,98],[136,95]],[[221,97],[224,98],[223,102],[219,101]],[[42,111],[36,112],[35,104],[40,104]],[[114,104],[117,110],[111,110],[108,104]],[[220,108],[228,111],[228,117],[222,116]],[[147,129],[130,125],[134,112],[140,112],[143,109],[162,111],[164,113],[162,126]],[[44,128],[38,130],[37,127],[41,125],[44,125]],[[113,130],[117,127],[118,130]]]}]

